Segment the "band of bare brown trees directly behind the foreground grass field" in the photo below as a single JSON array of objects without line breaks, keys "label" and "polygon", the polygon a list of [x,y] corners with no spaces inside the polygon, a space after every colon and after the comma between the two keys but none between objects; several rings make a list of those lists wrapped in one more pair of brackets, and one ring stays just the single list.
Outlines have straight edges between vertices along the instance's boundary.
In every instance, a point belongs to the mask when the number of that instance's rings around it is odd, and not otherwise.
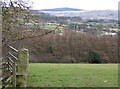
[{"label": "band of bare brown trees directly behind the foreground grass field", "polygon": [[[34,31],[34,35],[44,31]],[[33,32],[24,32],[33,35]],[[15,45],[14,45],[15,46]],[[117,63],[117,35],[98,36],[90,33],[64,30],[62,34],[50,33],[43,37],[24,39],[16,47],[30,52],[30,62],[45,63]]]}]

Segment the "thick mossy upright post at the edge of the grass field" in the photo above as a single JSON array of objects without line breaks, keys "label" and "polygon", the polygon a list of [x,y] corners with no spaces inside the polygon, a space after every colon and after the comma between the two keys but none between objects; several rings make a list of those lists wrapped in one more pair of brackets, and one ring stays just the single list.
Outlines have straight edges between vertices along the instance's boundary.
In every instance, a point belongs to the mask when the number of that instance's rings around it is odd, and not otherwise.
[{"label": "thick mossy upright post at the edge of the grass field", "polygon": [[27,69],[29,63],[28,49],[22,48],[18,51],[16,87],[27,86]]}]

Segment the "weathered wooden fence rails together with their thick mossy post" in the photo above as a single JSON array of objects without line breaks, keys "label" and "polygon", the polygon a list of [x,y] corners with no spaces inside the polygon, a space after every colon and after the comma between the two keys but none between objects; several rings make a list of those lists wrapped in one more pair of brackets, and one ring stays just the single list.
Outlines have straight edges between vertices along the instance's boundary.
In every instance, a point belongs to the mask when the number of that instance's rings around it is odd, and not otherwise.
[{"label": "weathered wooden fence rails together with their thick mossy post", "polygon": [[[27,87],[27,70],[29,63],[28,49],[20,50],[8,45],[9,51],[3,68],[2,89],[23,89]],[[6,72],[4,72],[6,71]],[[1,89],[1,88],[0,88]]]}]

